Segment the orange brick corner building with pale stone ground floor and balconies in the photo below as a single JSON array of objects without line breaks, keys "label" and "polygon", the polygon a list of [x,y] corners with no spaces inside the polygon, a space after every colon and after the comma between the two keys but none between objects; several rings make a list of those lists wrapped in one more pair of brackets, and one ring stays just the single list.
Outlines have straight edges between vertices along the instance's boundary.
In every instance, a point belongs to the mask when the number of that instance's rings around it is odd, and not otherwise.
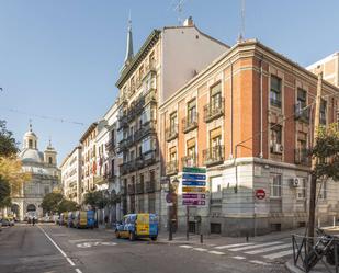
[{"label": "orange brick corner building with pale stone ground floor and balconies", "polygon": [[[236,44],[161,103],[161,174],[181,181],[184,166],[207,169],[207,205],[190,209],[191,229],[241,235],[305,225],[316,86],[316,75],[253,39]],[[339,89],[324,81],[323,94],[326,125],[336,121]],[[256,197],[259,189],[263,200]],[[321,223],[338,216],[338,183],[323,182]],[[181,194],[179,186],[173,215],[185,229]]]}]

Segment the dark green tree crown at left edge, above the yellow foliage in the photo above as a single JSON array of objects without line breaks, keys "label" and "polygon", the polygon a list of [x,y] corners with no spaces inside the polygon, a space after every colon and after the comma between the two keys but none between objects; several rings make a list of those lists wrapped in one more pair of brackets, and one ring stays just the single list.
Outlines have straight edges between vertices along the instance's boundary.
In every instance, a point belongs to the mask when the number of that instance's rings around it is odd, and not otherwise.
[{"label": "dark green tree crown at left edge, above the yellow foliage", "polygon": [[5,124],[5,121],[0,121],[0,157],[11,157],[19,151],[13,133],[7,129]]}]

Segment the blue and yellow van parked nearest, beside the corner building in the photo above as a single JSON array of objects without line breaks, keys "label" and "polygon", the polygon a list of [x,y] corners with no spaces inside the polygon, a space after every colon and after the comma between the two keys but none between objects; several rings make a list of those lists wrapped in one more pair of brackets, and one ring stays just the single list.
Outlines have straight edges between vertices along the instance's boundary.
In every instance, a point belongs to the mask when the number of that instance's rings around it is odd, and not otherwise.
[{"label": "blue and yellow van parked nearest, beside the corner building", "polygon": [[158,217],[155,214],[127,214],[115,228],[116,238],[158,238]]}]

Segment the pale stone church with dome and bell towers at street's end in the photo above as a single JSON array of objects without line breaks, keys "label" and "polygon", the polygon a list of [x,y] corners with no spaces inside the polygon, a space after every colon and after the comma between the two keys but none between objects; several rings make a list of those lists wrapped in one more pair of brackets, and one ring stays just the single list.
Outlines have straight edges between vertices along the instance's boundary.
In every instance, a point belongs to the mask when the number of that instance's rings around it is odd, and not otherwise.
[{"label": "pale stone church with dome and bell towers at street's end", "polygon": [[23,137],[19,159],[22,162],[23,172],[30,172],[32,179],[12,196],[11,211],[19,220],[33,216],[42,217],[41,204],[44,196],[59,185],[60,170],[57,168],[57,152],[52,147],[50,140],[45,151],[39,151],[37,140],[30,124],[30,130]]}]

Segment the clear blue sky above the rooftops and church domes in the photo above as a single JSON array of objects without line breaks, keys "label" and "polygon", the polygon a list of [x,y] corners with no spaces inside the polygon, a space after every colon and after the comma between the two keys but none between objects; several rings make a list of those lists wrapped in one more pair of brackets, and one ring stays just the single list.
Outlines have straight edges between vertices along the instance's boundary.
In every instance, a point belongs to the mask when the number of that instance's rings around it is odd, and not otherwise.
[{"label": "clear blue sky above the rooftops and church domes", "polygon": [[[136,53],[152,29],[178,24],[173,2],[0,0],[0,118],[19,141],[32,118],[39,148],[50,136],[60,162],[116,96],[129,10]],[[338,0],[247,0],[245,37],[307,66],[339,50],[338,10]],[[187,0],[182,14],[228,45],[237,39],[240,0]]]}]

